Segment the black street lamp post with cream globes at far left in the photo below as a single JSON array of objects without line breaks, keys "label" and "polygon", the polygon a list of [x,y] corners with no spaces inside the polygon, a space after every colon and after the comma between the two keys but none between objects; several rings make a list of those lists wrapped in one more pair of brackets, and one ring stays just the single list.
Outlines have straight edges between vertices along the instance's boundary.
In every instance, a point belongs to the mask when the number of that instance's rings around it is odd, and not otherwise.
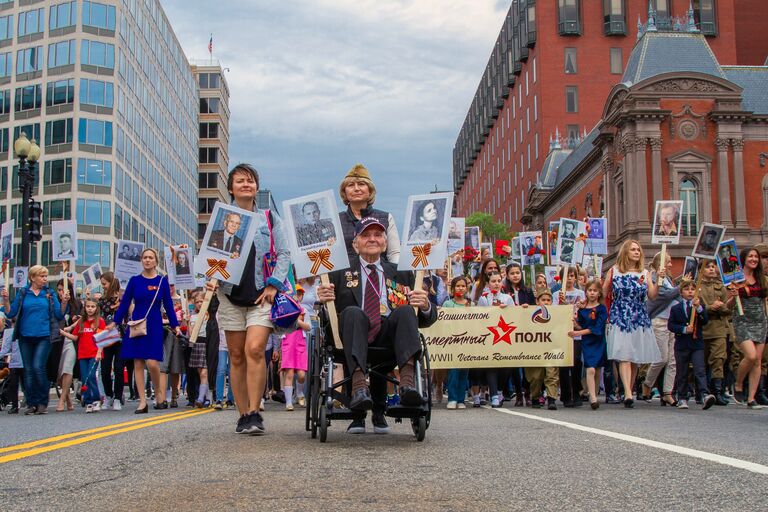
[{"label": "black street lamp post with cream globes at far left", "polygon": [[40,228],[42,209],[40,203],[32,200],[32,187],[35,185],[35,168],[40,158],[40,146],[21,135],[13,143],[13,150],[19,159],[19,190],[21,191],[21,266],[29,266],[30,245],[42,238]]}]

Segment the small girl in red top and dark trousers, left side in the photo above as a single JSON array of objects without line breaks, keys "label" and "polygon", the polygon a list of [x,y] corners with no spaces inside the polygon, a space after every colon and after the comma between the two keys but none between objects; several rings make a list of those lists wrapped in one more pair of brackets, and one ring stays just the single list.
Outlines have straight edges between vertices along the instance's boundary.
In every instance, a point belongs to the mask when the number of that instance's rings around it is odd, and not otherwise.
[{"label": "small girl in red top and dark trousers, left side", "polygon": [[[80,379],[83,382],[82,402],[85,412],[99,412],[101,410],[101,396],[99,395],[99,383],[96,380],[95,366],[102,358],[102,350],[96,346],[94,335],[106,328],[107,324],[101,318],[99,303],[96,299],[85,299],[85,314],[83,318],[71,327],[60,329],[59,332],[65,338],[77,342],[77,360],[80,364]],[[71,332],[68,330],[71,329]]]}]

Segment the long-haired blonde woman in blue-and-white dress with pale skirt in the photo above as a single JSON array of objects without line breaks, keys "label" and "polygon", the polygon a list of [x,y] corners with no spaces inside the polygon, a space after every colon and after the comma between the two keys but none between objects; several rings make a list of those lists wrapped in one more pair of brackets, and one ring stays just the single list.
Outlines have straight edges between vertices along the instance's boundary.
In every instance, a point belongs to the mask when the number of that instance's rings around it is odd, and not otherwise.
[{"label": "long-haired blonde woman in blue-and-white dress with pale skirt", "polygon": [[[666,269],[661,267],[657,277],[662,281]],[[603,294],[610,297],[610,325],[606,332],[608,359],[619,362],[619,374],[624,386],[624,406],[635,406],[632,383],[635,365],[661,361],[661,352],[651,328],[645,301],[654,299],[658,286],[643,267],[643,249],[637,240],[621,245],[619,255],[605,281]]]}]

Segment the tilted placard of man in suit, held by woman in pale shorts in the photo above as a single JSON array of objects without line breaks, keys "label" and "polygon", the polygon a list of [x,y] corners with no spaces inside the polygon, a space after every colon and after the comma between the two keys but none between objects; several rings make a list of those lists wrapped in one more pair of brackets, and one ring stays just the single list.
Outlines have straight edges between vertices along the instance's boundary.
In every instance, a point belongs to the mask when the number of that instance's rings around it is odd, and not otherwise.
[{"label": "tilted placard of man in suit, held by woman in pale shorts", "polygon": [[194,261],[195,272],[239,284],[248,260],[248,249],[253,245],[256,215],[264,214],[216,201]]}]

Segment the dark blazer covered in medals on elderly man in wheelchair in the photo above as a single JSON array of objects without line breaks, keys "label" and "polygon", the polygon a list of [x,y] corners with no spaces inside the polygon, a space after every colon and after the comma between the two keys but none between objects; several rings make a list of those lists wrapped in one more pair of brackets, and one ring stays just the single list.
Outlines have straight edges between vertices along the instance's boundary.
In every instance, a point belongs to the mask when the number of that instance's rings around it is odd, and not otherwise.
[{"label": "dark blazer covered in medals on elderly man in wheelchair", "polygon": [[[384,287],[390,309],[408,307],[405,287],[413,289],[416,276],[410,271],[398,271],[397,266],[381,260],[384,269]],[[336,291],[336,311],[339,315],[350,306],[363,307],[363,282],[365,273],[360,268],[360,257],[350,261],[350,268],[328,274],[328,279]],[[428,312],[419,310],[419,327],[429,327],[437,321],[437,308],[432,305]]]}]

